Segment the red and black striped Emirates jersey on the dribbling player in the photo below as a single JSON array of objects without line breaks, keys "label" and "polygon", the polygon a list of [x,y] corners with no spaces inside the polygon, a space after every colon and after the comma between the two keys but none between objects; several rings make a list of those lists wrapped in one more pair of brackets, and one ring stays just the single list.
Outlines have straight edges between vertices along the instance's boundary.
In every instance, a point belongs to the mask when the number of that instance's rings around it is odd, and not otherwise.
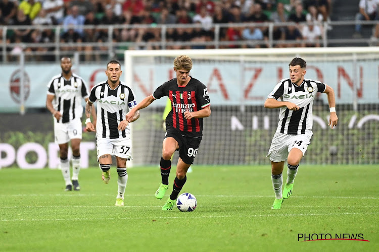
[{"label": "red and black striped Emirates jersey on the dribbling player", "polygon": [[172,110],[166,117],[166,129],[172,127],[185,137],[203,136],[203,118],[184,119],[185,111],[199,111],[211,105],[203,83],[191,77],[187,85],[178,86],[174,78],[159,86],[152,96],[154,99],[167,96],[171,100]]}]

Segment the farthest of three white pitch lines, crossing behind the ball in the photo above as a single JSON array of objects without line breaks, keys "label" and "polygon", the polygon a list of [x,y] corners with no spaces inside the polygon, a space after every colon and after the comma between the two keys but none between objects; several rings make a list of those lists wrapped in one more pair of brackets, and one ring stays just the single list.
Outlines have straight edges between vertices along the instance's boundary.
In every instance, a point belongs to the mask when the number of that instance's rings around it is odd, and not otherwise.
[{"label": "farthest of three white pitch lines, crossing behind the ball", "polygon": [[[69,196],[69,197],[75,197],[75,196],[113,196],[113,194],[3,194],[0,195],[0,198],[2,197],[28,197],[28,196]],[[125,197],[152,197],[154,194],[129,194],[125,195]],[[272,195],[196,195],[196,197],[225,197],[225,198],[234,198],[234,197],[243,197],[243,198],[272,198],[274,196]],[[345,196],[292,196],[292,198],[331,198],[331,199],[362,199],[362,200],[378,200],[377,197],[345,197]]]}]

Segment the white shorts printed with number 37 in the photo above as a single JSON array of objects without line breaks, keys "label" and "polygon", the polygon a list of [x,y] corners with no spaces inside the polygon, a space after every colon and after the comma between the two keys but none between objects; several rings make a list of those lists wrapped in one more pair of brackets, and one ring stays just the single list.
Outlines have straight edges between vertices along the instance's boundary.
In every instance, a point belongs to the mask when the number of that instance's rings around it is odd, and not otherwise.
[{"label": "white shorts printed with number 37", "polygon": [[132,159],[130,138],[100,138],[96,141],[96,147],[98,149],[98,161],[99,157],[105,154],[111,154],[120,158]]}]

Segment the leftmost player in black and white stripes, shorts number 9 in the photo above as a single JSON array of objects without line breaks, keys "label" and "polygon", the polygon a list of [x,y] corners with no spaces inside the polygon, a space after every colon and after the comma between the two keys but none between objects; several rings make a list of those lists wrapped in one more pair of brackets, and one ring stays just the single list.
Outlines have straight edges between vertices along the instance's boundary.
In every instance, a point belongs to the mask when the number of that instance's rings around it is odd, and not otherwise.
[{"label": "leftmost player in black and white stripes, shorts number 9", "polygon": [[[62,57],[62,73],[54,76],[49,82],[46,107],[54,116],[55,142],[59,145],[60,165],[66,182],[65,191],[71,191],[72,187],[75,191],[79,191],[82,99],[88,100],[88,91],[84,80],[73,74],[71,67],[71,58]],[[95,111],[92,116],[96,118]],[[68,142],[71,142],[72,149],[72,180],[67,157]]]}]

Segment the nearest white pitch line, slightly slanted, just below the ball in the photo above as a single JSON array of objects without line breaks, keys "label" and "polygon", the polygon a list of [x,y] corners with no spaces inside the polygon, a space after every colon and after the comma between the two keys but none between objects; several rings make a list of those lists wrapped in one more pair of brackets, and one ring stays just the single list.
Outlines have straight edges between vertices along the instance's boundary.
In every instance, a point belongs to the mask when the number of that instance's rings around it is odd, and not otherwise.
[{"label": "nearest white pitch line, slightly slanted, just below the ball", "polygon": [[321,215],[355,215],[355,214],[379,214],[379,212],[373,213],[323,213],[323,214],[257,214],[257,215],[222,215],[222,216],[169,216],[169,217],[125,217],[125,218],[68,218],[68,219],[0,219],[0,221],[81,221],[81,220],[142,220],[142,219],[198,219],[198,218],[229,218],[229,217],[240,217],[240,218],[254,218],[254,217],[293,217],[293,216],[321,216]]}]

